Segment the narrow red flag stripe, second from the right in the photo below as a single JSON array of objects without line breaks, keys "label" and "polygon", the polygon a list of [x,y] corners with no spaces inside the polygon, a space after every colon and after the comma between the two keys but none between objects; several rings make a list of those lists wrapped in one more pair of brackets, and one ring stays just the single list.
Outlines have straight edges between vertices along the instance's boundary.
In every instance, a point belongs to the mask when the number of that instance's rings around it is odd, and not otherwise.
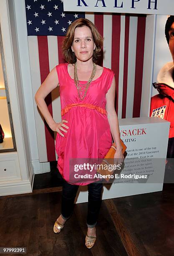
[{"label": "narrow red flag stripe, second from the right", "polygon": [[126,118],[128,58],[129,58],[129,23],[130,23],[130,16],[126,15],[126,17],[125,17],[125,39],[124,39],[124,76],[123,76],[122,118]]}]

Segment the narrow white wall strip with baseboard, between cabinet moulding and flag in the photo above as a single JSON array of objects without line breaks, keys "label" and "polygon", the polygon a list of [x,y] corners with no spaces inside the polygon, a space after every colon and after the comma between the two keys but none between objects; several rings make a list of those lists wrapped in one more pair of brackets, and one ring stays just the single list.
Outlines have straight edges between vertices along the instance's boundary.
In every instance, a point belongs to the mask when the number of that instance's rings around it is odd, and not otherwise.
[{"label": "narrow white wall strip with baseboard, between cabinet moulding and flag", "polygon": [[16,23],[16,33],[18,38],[18,54],[20,61],[20,71],[23,89],[23,100],[25,105],[25,118],[28,130],[28,140],[30,145],[31,160],[34,167],[34,173],[50,171],[49,163],[39,163],[38,144],[35,127],[35,115],[33,106],[33,92],[30,74],[30,59],[28,51],[28,36],[25,16],[25,0],[9,1],[14,5],[14,15]]}]

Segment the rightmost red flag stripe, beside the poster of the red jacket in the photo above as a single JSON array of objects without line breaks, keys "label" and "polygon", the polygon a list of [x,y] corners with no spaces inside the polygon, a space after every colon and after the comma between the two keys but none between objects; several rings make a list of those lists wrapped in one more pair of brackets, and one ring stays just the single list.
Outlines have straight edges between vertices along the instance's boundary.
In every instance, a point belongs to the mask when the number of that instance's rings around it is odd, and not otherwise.
[{"label": "rightmost red flag stripe, beside the poster of the red jacket", "polygon": [[146,16],[138,17],[133,118],[140,117]]}]

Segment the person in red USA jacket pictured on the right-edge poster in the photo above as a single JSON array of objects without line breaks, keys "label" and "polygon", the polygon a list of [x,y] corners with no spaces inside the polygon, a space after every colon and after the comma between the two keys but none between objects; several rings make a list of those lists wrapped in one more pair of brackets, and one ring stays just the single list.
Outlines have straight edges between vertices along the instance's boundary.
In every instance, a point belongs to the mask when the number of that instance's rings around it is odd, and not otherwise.
[{"label": "person in red USA jacket pictured on the right-edge poster", "polygon": [[153,83],[159,94],[151,97],[150,116],[158,116],[170,122],[164,183],[174,181],[174,16],[166,21],[165,35],[173,61],[161,68],[157,83]]}]

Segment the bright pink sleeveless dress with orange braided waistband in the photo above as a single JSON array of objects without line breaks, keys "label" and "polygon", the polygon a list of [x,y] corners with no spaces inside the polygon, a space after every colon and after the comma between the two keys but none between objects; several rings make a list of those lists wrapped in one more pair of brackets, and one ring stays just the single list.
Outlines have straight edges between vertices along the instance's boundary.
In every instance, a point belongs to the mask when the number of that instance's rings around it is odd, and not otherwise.
[{"label": "bright pink sleeveless dress with orange braided waistband", "polygon": [[[112,146],[111,130],[108,123],[106,93],[111,87],[114,73],[111,69],[103,68],[103,73],[88,87],[86,97],[78,97],[74,80],[68,74],[68,63],[56,66],[60,86],[62,120],[68,120],[65,137],[57,133],[55,150],[58,154],[57,168],[63,179],[71,184],[87,185],[83,179],[72,182],[70,179],[71,158],[100,158],[106,156]],[[80,81],[86,83],[87,81]],[[83,105],[81,105],[83,104]]]}]

